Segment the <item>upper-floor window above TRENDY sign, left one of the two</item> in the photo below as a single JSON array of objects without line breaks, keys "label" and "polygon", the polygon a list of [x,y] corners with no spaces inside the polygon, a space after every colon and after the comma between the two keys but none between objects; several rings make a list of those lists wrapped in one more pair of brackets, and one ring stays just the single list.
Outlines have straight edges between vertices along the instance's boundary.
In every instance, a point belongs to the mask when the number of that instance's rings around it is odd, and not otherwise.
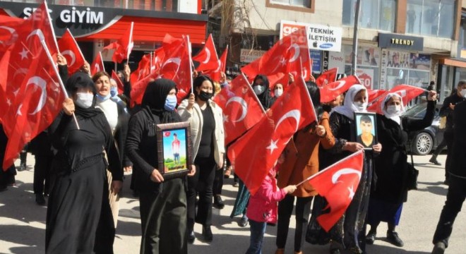
[{"label": "upper-floor window above TRENDY sign, left one of the two", "polygon": [[[343,25],[354,25],[357,0],[343,0]],[[393,32],[395,28],[395,0],[361,0],[359,28]]]}]

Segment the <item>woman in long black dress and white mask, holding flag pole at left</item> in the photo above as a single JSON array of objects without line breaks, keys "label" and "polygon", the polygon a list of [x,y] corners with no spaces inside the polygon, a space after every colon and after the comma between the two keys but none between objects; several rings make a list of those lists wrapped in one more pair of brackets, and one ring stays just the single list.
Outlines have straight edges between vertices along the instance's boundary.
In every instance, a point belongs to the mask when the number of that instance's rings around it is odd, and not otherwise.
[{"label": "woman in long black dress and white mask, holding flag pole at left", "polygon": [[68,78],[66,90],[71,99],[65,99],[64,110],[49,127],[57,153],[45,253],[112,253],[115,229],[105,171],[108,166],[112,191],[118,193],[123,171],[117,147],[104,113],[95,108],[97,91],[89,75],[75,73]]}]

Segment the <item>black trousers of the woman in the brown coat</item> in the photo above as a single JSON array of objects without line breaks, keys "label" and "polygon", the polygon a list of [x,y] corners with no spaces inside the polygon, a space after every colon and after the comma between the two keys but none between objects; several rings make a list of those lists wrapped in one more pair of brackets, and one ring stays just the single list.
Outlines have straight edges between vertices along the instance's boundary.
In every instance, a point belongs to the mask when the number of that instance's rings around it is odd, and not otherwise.
[{"label": "black trousers of the woman in the brown coat", "polygon": [[[286,195],[285,198],[278,202],[278,222],[277,222],[277,248],[285,248],[288,237],[289,218],[293,212],[294,196]],[[313,197],[299,198],[296,197],[296,230],[294,231],[294,251],[302,250],[304,236],[311,213],[311,202]]]}]

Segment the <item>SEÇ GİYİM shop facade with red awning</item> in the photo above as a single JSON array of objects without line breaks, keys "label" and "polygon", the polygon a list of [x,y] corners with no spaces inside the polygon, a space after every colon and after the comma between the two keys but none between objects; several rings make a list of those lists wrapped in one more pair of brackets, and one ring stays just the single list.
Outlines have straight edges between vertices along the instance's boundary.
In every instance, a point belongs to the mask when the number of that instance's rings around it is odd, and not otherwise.
[{"label": "SE\u00c7 G\u0130Y\u0130M shop facade with red awning", "polygon": [[[28,18],[42,1],[0,0],[0,15]],[[129,63],[136,69],[143,54],[160,47],[166,33],[190,35],[193,47],[205,41],[208,16],[201,0],[52,0],[47,1],[55,34],[69,29],[88,62],[110,42],[133,26],[133,52]],[[113,69],[112,52],[102,52],[106,69]]]}]

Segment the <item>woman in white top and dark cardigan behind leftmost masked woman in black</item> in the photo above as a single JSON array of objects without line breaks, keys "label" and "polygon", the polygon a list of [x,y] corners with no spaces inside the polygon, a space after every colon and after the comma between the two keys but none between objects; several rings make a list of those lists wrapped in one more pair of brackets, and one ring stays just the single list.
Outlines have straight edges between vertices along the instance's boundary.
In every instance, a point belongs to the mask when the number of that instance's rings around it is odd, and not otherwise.
[{"label": "woman in white top and dark cardigan behind leftmost masked woman in black", "polygon": [[[95,107],[99,107],[104,111],[105,118],[107,118],[107,121],[109,122],[117,147],[119,148],[121,164],[124,167],[121,171],[131,171],[133,164],[124,154],[124,143],[126,141],[126,133],[128,132],[129,114],[126,112],[125,107],[111,99],[112,88],[108,73],[104,71],[95,73],[92,76],[92,81],[94,81],[95,88],[97,90],[97,95],[95,95]],[[107,171],[107,178],[109,179],[109,182],[112,181],[112,175],[109,174],[109,171]],[[116,227],[118,222],[119,193],[110,193],[109,202],[110,207],[112,207],[112,214]]]}]

